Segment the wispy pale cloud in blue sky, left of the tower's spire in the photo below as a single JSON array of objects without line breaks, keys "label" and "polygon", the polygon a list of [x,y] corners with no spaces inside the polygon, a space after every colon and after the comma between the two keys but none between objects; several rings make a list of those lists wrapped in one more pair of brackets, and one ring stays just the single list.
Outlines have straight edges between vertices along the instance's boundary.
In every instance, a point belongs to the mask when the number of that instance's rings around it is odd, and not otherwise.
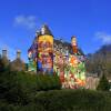
[{"label": "wispy pale cloud in blue sky, left of the tower's spire", "polygon": [[14,18],[14,26],[24,27],[27,29],[34,29],[36,17],[34,16],[18,16]]}]

